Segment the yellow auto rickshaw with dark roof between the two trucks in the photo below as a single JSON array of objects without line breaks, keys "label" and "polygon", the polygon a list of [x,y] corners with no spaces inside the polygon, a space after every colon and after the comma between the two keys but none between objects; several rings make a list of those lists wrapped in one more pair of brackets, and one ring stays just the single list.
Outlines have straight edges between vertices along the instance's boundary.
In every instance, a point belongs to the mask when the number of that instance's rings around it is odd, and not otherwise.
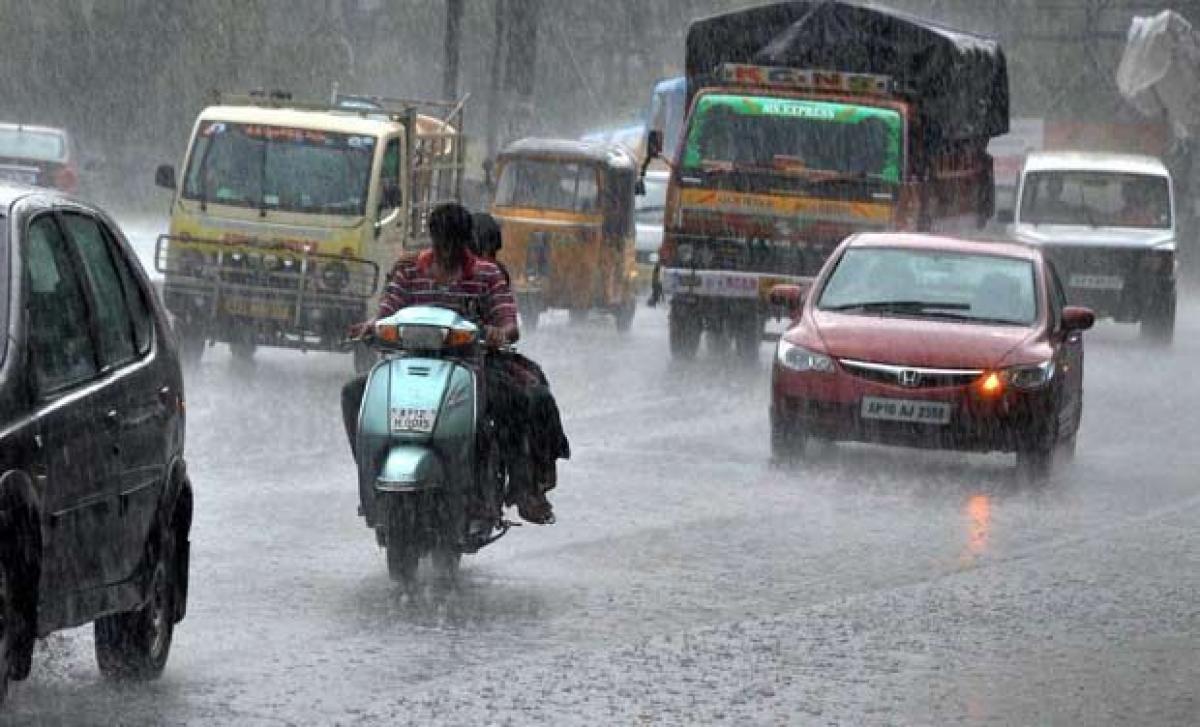
[{"label": "yellow auto rickshaw with dark roof between the two trucks", "polygon": [[565,308],[571,320],[611,313],[617,330],[629,330],[637,310],[632,155],[616,144],[522,139],[496,169],[492,215],[523,325]]}]

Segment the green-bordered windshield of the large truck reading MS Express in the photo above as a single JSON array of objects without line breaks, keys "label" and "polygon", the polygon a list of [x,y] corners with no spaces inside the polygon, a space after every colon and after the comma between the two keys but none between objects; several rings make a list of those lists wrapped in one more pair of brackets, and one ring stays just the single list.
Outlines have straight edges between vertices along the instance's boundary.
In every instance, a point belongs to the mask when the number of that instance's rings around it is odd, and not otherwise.
[{"label": "green-bordered windshield of the large truck reading MS Express", "polygon": [[685,169],[835,173],[900,181],[904,119],[870,106],[709,95],[696,102]]}]

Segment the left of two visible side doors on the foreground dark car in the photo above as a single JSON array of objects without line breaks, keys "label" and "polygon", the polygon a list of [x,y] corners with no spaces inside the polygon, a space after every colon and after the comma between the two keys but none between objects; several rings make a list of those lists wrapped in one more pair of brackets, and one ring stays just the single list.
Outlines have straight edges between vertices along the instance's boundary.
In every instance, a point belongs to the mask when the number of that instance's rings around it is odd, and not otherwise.
[{"label": "left of two visible side doors on the foreground dark car", "polygon": [[115,399],[104,386],[79,268],[54,216],[23,239],[30,384],[47,512],[43,597],[103,585],[115,575]]}]

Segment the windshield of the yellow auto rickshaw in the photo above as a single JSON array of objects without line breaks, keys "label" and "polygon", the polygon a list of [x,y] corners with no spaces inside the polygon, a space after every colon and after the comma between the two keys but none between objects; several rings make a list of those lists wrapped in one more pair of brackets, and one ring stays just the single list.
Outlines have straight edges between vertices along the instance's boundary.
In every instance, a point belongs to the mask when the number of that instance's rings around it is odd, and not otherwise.
[{"label": "windshield of the yellow auto rickshaw", "polygon": [[496,204],[572,212],[595,212],[596,169],[576,162],[511,160],[496,187]]}]

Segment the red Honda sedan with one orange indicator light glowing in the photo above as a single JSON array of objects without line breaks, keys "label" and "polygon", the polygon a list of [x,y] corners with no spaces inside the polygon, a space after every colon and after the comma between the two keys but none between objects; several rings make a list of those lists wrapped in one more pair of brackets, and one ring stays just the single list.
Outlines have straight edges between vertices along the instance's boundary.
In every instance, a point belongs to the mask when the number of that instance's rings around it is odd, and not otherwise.
[{"label": "red Honda sedan with one orange indicator light glowing", "polygon": [[809,439],[1016,452],[1045,475],[1074,453],[1087,308],[1066,305],[1033,248],[918,234],[844,241],[804,296],[772,292],[796,320],[775,352],[772,450]]}]

